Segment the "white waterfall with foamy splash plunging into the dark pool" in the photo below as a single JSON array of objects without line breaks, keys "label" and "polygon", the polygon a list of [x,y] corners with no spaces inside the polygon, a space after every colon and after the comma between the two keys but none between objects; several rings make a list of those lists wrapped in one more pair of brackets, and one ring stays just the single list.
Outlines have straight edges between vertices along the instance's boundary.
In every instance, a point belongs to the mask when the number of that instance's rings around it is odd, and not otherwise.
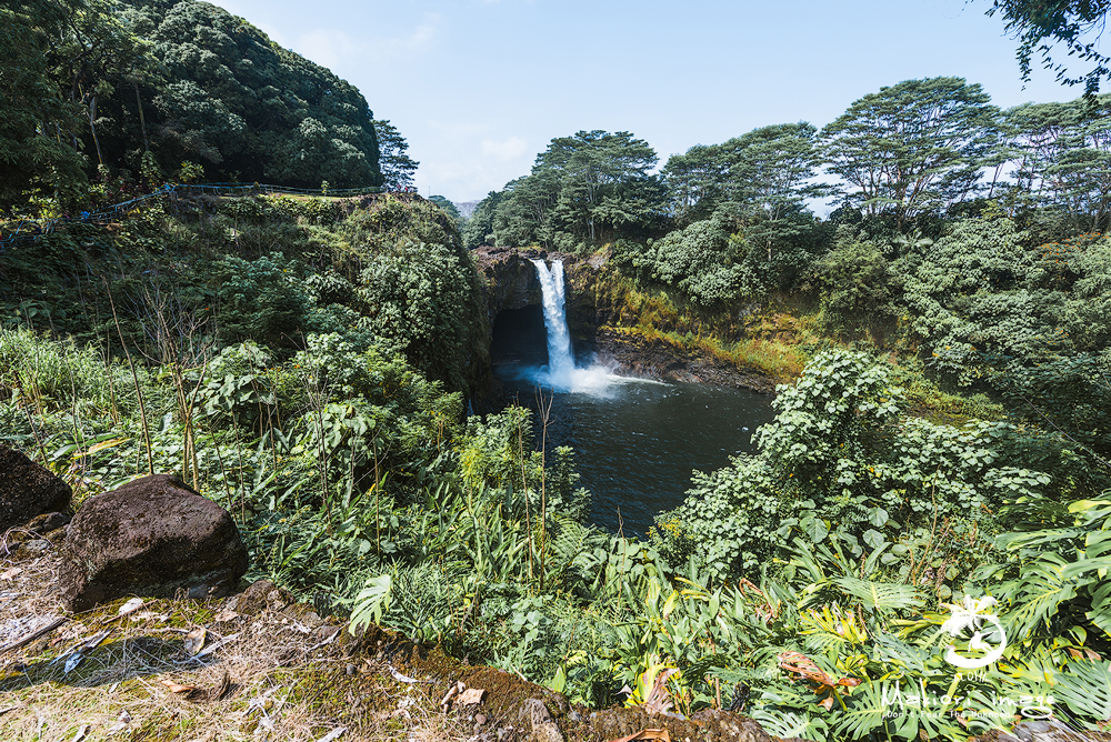
[{"label": "white waterfall with foamy splash plunging into the dark pool", "polygon": [[609,367],[593,364],[587,369],[574,365],[571,354],[571,331],[567,327],[563,293],[563,261],[553,260],[551,270],[543,260],[533,260],[544,300],[544,329],[548,331],[548,367],[529,374],[537,383],[562,392],[605,394],[614,375]]}]

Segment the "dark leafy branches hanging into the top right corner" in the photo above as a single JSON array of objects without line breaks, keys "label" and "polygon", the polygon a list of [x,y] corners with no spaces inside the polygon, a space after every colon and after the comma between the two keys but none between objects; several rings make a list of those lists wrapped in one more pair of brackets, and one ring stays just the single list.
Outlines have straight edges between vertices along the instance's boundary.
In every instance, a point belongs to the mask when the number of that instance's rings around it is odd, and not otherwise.
[{"label": "dark leafy branches hanging into the top right corner", "polygon": [[[1111,57],[1097,49],[1109,10],[1111,0],[992,0],[988,14],[1002,14],[1007,31],[1018,39],[1024,81],[1030,80],[1030,60],[1037,51],[1043,67],[1057,72],[1059,81],[1070,86],[1083,82],[1085,96],[1091,97],[1099,92],[1101,80],[1111,76]],[[1063,43],[1070,57],[1094,67],[1087,74],[1070,77],[1064,64],[1053,62],[1055,43]]]}]

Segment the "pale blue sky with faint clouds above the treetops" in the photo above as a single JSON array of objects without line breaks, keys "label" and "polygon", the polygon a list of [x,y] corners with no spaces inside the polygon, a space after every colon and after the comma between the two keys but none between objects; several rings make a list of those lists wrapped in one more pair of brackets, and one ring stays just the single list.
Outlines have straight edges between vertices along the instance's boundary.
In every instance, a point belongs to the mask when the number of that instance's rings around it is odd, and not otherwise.
[{"label": "pale blue sky with faint clouds above the treetops", "polygon": [[[822,127],[861,96],[960,76],[1002,108],[1082,90],[1035,70],[990,0],[220,0],[362,91],[424,195],[481,199],[553,137],[631,131],[660,156],[757,127]],[[1023,89],[1023,87],[1025,89]]]}]

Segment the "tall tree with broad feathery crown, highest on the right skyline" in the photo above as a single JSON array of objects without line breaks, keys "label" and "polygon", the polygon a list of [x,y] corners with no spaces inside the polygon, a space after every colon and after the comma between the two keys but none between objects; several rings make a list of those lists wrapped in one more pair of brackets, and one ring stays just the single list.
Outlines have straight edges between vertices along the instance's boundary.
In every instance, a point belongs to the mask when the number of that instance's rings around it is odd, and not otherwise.
[{"label": "tall tree with broad feathery crown, highest on the right skyline", "polygon": [[963,78],[907,80],[864,96],[822,130],[830,172],[851,197],[901,230],[977,192],[1002,144],[1000,112]]}]

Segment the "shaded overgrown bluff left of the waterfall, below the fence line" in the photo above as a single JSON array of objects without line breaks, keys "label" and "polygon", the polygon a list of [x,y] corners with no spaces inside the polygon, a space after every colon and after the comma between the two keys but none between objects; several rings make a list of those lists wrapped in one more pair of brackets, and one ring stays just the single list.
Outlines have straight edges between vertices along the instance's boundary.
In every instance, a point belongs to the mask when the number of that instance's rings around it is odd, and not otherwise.
[{"label": "shaded overgrown bluff left of the waterfall, below the fence line", "polygon": [[403,352],[454,390],[472,389],[487,363],[473,263],[452,220],[416,197],[183,201],[116,235],[60,230],[4,261],[9,317],[114,347],[114,309],[153,359],[164,350],[151,325],[164,324],[209,348],[253,340],[286,354],[309,333],[338,332]]}]

